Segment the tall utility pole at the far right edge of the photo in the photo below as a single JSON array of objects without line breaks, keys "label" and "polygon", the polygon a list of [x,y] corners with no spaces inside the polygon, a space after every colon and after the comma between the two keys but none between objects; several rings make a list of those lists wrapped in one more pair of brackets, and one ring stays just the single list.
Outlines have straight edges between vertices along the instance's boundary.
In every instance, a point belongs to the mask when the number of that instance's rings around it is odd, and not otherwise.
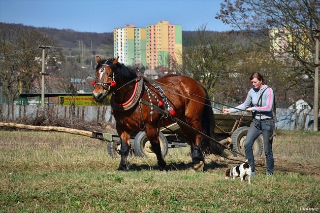
[{"label": "tall utility pole at the far right edge of the photo", "polygon": [[313,30],[315,34],[315,59],[314,59],[314,113],[313,113],[313,131],[318,131],[318,114],[319,114],[319,29]]}]

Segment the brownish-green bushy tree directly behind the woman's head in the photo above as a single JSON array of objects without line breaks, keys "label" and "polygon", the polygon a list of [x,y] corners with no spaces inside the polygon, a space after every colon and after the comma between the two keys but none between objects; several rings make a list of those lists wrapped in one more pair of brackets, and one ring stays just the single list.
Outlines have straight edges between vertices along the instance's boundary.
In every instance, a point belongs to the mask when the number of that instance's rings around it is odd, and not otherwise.
[{"label": "brownish-green bushy tree directly behind the woman's head", "polygon": [[265,83],[273,88],[276,98],[279,99],[283,88],[275,87],[275,85],[285,84],[288,81],[279,76],[277,70],[277,64],[274,63],[268,52],[253,49],[238,50],[234,62],[227,68],[229,78],[218,81],[216,84],[215,100],[233,107],[242,103],[248,90],[252,87],[249,78],[253,72],[257,71],[264,75]]}]

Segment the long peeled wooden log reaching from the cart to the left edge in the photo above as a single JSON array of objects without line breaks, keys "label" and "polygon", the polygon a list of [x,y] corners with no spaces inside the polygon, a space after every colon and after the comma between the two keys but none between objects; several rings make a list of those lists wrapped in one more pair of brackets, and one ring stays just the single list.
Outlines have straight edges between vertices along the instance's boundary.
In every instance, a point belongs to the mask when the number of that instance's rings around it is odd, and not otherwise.
[{"label": "long peeled wooden log reaching from the cart to the left edge", "polygon": [[77,135],[92,137],[92,132],[79,130],[79,129],[71,129],[71,128],[66,128],[66,127],[59,127],[59,126],[33,126],[33,125],[5,123],[5,122],[0,122],[0,126],[11,127],[11,128],[20,128],[20,129],[40,130],[40,131],[66,132],[66,133],[70,133],[70,134],[77,134]]}]

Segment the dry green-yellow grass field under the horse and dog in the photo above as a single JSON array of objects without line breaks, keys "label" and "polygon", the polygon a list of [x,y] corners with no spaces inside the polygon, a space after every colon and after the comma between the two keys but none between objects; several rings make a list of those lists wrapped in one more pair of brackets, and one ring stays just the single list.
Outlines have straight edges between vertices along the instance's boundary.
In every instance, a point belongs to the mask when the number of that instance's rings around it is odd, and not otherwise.
[{"label": "dry green-yellow grass field under the horse and dog", "polygon": [[[320,211],[320,175],[264,168],[251,184],[225,180],[234,164],[206,157],[191,169],[189,148],[169,149],[169,172],[156,160],[130,157],[117,171],[98,139],[59,132],[0,130],[0,212],[299,212]],[[320,133],[280,131],[276,161],[320,164]]]}]

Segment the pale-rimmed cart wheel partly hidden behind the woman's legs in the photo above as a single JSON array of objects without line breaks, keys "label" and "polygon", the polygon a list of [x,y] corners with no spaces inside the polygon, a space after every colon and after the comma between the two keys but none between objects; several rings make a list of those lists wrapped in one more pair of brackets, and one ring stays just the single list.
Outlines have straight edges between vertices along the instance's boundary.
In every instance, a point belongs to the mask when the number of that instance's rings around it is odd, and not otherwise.
[{"label": "pale-rimmed cart wheel partly hidden behind the woman's legs", "polygon": [[[231,135],[232,141],[230,143],[230,147],[235,157],[241,155],[245,156],[244,141],[247,136],[248,130],[248,126],[239,127]],[[252,149],[254,157],[260,157],[262,155],[263,140],[260,136],[254,141]]]}]

